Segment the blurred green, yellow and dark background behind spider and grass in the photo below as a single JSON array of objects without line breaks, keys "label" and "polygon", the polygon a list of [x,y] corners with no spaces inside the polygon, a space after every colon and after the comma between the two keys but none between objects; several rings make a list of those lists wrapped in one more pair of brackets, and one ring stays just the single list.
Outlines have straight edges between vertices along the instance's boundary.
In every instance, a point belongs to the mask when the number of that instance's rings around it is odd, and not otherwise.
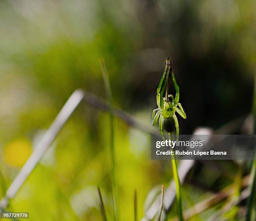
[{"label": "blurred green, yellow and dark background behind spider and grass", "polygon": [[[254,0],[1,0],[0,198],[75,89],[105,99],[102,57],[114,105],[146,125],[166,56],[187,113],[182,134],[246,118],[255,104],[255,27]],[[150,135],[118,118],[115,145],[121,220],[133,220],[134,189],[141,218],[148,192],[172,178],[171,163],[152,161]],[[100,186],[111,220],[109,156],[108,113],[80,105],[8,210],[28,211],[33,221],[101,220]],[[198,162],[184,184],[184,207],[233,183],[237,168]]]}]

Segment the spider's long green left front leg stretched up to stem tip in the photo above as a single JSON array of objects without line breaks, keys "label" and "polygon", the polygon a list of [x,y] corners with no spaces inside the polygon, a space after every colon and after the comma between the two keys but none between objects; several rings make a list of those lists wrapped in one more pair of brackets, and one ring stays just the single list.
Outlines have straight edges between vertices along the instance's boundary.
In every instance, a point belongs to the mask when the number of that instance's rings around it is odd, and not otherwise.
[{"label": "spider's long green left front leg stretched up to stem tip", "polygon": [[161,77],[158,88],[156,89],[156,103],[159,108],[164,107],[163,96],[164,96],[164,90],[166,89],[166,85],[168,82],[170,70],[171,70],[170,60],[169,60],[169,58],[166,58],[164,73]]}]

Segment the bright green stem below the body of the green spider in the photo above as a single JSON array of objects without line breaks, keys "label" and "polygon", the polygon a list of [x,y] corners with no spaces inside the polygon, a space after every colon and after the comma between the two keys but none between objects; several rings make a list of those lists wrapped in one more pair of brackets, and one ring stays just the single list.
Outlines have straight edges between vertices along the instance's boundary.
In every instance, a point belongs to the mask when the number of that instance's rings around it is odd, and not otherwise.
[{"label": "bright green stem below the body of the green spider", "polygon": [[[169,139],[172,140],[172,135],[171,133],[168,133]],[[175,157],[175,154],[172,155],[172,173],[173,173],[173,178],[176,186],[176,199],[177,199],[177,212],[178,212],[178,217],[179,221],[184,221],[183,218],[183,209],[182,209],[182,196],[181,196],[181,185],[179,181],[179,173],[178,173],[178,163],[177,159]]]}]

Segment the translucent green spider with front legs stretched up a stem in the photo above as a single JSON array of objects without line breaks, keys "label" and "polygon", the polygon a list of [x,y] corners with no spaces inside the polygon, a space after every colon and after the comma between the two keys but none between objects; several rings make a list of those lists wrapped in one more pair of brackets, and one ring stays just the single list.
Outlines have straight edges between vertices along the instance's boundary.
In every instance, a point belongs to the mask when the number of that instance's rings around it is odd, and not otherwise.
[{"label": "translucent green spider with front legs stretched up a stem", "polygon": [[[172,81],[176,90],[175,98],[171,94],[168,95],[168,79],[170,73],[172,73]],[[172,101],[169,100],[169,98],[172,98]],[[179,86],[174,77],[172,63],[168,57],[166,58],[164,73],[156,90],[156,103],[158,108],[153,110],[151,125],[154,126],[159,118],[159,130],[163,139],[165,140],[163,128],[168,133],[172,133],[174,128],[176,128],[176,136],[177,139],[179,139],[179,123],[175,112],[177,111],[177,113],[184,119],[186,119],[187,116],[181,103],[179,103]]]}]

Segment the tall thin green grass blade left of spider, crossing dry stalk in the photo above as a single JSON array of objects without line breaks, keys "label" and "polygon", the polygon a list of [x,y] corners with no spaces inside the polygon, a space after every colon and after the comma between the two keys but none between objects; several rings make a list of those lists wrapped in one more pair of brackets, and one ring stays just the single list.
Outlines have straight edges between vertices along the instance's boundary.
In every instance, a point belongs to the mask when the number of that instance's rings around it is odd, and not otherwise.
[{"label": "tall thin green grass blade left of spider, crossing dry stalk", "polygon": [[110,87],[110,81],[108,77],[108,71],[103,59],[100,60],[100,68],[102,71],[102,77],[104,81],[105,91],[109,102],[109,119],[110,119],[110,156],[112,162],[111,179],[113,185],[113,208],[114,208],[114,220],[119,221],[119,201],[118,201],[118,182],[116,174],[116,157],[115,157],[115,146],[114,146],[114,118],[113,118],[113,101],[112,92]]}]

